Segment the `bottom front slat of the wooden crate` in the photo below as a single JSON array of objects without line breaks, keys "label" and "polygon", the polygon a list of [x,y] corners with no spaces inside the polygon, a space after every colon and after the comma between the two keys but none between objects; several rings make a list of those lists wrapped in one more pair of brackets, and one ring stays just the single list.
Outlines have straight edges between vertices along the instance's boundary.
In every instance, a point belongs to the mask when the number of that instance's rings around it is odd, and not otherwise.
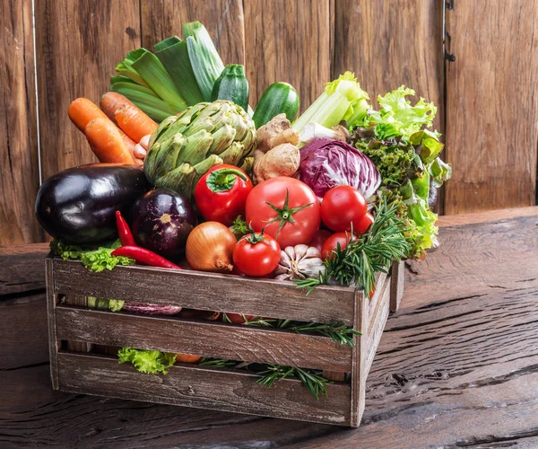
[{"label": "bottom front slat of the wooden crate", "polygon": [[117,360],[82,354],[58,354],[60,390],[198,409],[215,409],[273,418],[349,426],[350,387],[328,385],[317,401],[299,381],[276,382],[271,388],[243,374],[177,365],[166,376],[138,373]]}]

